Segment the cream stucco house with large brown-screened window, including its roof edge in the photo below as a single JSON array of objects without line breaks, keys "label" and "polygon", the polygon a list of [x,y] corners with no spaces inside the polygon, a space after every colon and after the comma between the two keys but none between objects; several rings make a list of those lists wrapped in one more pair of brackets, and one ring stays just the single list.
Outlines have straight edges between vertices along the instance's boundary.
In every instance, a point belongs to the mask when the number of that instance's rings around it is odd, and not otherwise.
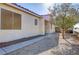
[{"label": "cream stucco house with large brown-screened window, including its roof edge", "polygon": [[0,3],[0,43],[52,33],[50,22],[15,3]]}]

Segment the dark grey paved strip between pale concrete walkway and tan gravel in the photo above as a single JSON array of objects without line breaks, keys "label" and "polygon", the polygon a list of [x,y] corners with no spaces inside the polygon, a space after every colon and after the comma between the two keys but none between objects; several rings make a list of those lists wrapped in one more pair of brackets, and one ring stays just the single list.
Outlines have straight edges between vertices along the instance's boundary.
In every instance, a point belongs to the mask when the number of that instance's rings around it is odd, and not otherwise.
[{"label": "dark grey paved strip between pale concrete walkway and tan gravel", "polygon": [[[36,38],[38,40],[38,38]],[[48,51],[58,45],[58,34],[48,34],[40,37],[35,43],[26,45],[23,48],[17,49],[13,52],[7,53],[7,55],[35,55],[40,54],[44,51]],[[27,44],[27,43],[26,43]]]}]

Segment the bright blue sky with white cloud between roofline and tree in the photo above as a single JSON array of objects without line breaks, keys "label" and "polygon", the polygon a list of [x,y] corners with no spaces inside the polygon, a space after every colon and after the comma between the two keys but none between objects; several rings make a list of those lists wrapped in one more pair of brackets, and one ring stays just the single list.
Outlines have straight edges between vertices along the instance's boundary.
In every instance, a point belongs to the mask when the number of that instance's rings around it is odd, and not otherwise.
[{"label": "bright blue sky with white cloud between roofline and tree", "polygon": [[48,7],[52,6],[53,4],[49,3],[17,3],[18,5],[21,5],[39,15],[45,15],[48,14]]}]

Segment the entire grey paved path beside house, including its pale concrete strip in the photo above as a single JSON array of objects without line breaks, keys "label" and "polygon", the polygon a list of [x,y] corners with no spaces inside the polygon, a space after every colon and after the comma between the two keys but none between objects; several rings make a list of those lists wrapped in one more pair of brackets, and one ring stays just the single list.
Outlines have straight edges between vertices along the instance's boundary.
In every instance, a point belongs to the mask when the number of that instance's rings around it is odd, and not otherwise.
[{"label": "entire grey paved path beside house, including its pale concrete strip", "polygon": [[58,34],[47,34],[29,41],[0,48],[0,54],[7,55],[34,55],[58,45]]}]

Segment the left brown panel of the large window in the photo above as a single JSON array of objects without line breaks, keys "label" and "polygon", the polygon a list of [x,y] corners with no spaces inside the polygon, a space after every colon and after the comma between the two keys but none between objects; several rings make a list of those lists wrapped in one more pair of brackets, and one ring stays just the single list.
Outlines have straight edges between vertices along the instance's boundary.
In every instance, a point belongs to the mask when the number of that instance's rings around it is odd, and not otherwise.
[{"label": "left brown panel of the large window", "polygon": [[12,13],[1,9],[1,29],[12,29]]}]

